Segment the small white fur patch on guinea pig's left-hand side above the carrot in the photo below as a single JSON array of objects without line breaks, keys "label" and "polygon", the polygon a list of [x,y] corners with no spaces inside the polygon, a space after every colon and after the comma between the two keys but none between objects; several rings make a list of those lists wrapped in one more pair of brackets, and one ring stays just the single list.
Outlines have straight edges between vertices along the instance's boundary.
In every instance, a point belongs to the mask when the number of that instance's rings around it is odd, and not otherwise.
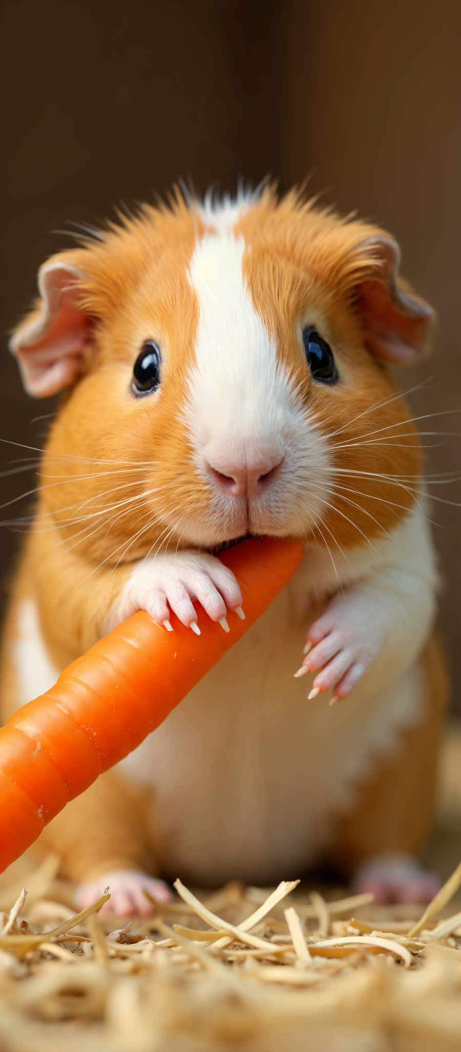
[{"label": "small white fur patch on guinea pig's left-hand side above the carrot", "polygon": [[45,649],[37,607],[32,599],[24,599],[19,606],[13,661],[22,705],[46,693],[60,674]]}]

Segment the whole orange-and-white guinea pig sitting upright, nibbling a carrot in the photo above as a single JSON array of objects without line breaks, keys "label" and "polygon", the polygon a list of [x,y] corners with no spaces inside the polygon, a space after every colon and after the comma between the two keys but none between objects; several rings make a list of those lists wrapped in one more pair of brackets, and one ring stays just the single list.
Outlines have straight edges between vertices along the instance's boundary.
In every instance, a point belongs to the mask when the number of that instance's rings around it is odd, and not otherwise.
[{"label": "whole orange-and-white guinea pig sitting upright, nibbling a carrot", "polygon": [[3,719],[139,608],[196,630],[197,601],[226,630],[242,595],[219,546],[306,543],[257,624],[45,830],[83,904],[110,885],[117,913],[143,912],[162,878],[267,884],[323,861],[380,901],[436,890],[413,852],[445,696],[437,571],[389,368],[426,350],[433,311],[399,259],[379,228],[265,188],[143,206],[40,269],[12,349],[30,394],[67,394]]}]

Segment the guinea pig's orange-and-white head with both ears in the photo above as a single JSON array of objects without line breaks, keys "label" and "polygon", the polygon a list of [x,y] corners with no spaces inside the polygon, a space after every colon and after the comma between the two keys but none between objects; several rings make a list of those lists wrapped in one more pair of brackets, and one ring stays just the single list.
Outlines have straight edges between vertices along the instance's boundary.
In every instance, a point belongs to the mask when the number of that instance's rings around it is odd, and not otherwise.
[{"label": "guinea pig's orange-and-white head with both ears", "polygon": [[270,189],[146,206],[54,257],[12,340],[32,393],[69,389],[50,514],[108,562],[389,532],[421,470],[389,365],[427,349],[433,320],[399,262],[378,228]]}]

